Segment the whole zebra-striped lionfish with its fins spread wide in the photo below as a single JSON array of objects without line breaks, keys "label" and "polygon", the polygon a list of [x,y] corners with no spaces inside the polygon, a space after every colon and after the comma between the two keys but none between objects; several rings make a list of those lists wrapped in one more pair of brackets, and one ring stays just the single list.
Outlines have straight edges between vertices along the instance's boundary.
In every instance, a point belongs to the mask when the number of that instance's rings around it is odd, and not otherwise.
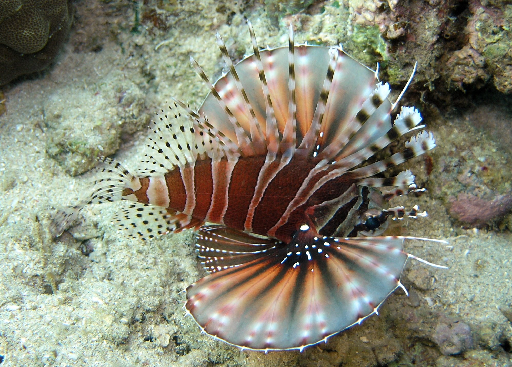
[{"label": "whole zebra-striped lionfish with its fins spread wide", "polygon": [[59,211],[52,231],[60,235],[87,204],[117,200],[132,202],[114,221],[133,236],[195,229],[209,275],[186,289],[185,308],[201,330],[241,348],[302,350],[378,314],[395,289],[407,293],[408,258],[436,266],[403,250],[405,239],[432,239],[380,236],[390,218],[426,215],[383,209],[423,190],[413,174],[374,177],[435,140],[421,131],[370,164],[424,127],[414,107],[390,117],[412,75],[391,103],[378,65],[341,47],[295,45],[291,26],[288,47],[260,49],[250,22],[249,32],[253,54],[237,65],[217,34],[229,71],[215,84],[191,58],[210,90],[201,107],[173,98],[156,113],[136,174],[101,157],[110,175]]}]

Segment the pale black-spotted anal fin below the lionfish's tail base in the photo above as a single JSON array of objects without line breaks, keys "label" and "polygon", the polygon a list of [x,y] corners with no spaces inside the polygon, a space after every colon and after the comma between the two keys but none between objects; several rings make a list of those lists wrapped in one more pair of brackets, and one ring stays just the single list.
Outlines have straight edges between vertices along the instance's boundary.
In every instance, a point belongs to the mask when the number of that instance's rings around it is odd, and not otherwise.
[{"label": "pale black-spotted anal fin below the lionfish's tail base", "polygon": [[188,215],[139,202],[121,209],[112,220],[130,237],[142,240],[190,228],[197,230],[203,224]]}]

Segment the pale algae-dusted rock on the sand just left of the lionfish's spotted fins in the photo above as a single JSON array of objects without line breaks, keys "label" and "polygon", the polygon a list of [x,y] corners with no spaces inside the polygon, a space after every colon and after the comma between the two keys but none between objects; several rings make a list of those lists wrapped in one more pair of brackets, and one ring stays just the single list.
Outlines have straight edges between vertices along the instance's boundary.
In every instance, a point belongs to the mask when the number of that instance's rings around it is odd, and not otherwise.
[{"label": "pale algae-dusted rock on the sand just left of the lionfish's spotted fins", "polygon": [[[108,78],[95,88],[69,86],[50,95],[44,107],[46,152],[71,175],[90,170],[99,155],[112,155],[119,149],[122,136],[131,136],[147,126],[144,91],[130,81],[120,80],[119,74],[112,73]],[[62,104],[62,95],[68,94],[74,97]],[[91,101],[94,108],[84,107],[83,100]]]}]

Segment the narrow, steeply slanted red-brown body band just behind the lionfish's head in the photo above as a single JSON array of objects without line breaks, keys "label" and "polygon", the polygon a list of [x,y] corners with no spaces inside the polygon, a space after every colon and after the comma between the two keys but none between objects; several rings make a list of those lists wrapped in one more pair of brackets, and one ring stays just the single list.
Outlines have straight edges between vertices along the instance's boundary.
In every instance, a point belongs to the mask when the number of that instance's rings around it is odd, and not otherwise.
[{"label": "narrow, steeply slanted red-brown body band just behind the lionfish's head", "polygon": [[[345,175],[337,176],[325,182],[325,184],[309,196],[305,203],[298,206],[290,213],[286,223],[275,231],[273,237],[289,242],[295,231],[304,223],[308,223],[308,215],[314,213],[311,210],[313,206],[339,197],[349,190],[353,184],[353,180]],[[311,211],[311,213],[309,213],[309,211]]]}]

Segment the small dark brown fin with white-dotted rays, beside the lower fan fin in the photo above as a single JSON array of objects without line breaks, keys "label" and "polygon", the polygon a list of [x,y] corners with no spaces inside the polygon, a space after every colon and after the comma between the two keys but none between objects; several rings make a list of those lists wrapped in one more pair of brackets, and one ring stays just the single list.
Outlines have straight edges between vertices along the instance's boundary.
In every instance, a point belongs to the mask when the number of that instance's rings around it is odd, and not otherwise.
[{"label": "small dark brown fin with white-dotted rays, beside the lower fan fin", "polygon": [[204,269],[210,273],[255,260],[281,243],[222,226],[203,226],[198,231],[196,240],[198,257],[202,260]]}]

